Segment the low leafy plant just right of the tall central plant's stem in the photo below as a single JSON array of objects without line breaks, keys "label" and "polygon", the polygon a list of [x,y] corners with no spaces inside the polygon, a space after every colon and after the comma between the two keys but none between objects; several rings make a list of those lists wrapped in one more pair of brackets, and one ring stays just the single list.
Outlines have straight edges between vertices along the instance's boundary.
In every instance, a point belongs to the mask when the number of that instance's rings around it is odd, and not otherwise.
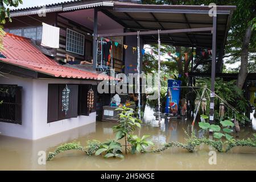
[{"label": "low leafy plant just right of the tall central plant's stem", "polygon": [[143,153],[146,151],[146,147],[154,146],[154,143],[151,140],[146,140],[150,135],[143,135],[142,138],[139,138],[137,135],[129,135],[128,141],[131,143],[131,154]]}]

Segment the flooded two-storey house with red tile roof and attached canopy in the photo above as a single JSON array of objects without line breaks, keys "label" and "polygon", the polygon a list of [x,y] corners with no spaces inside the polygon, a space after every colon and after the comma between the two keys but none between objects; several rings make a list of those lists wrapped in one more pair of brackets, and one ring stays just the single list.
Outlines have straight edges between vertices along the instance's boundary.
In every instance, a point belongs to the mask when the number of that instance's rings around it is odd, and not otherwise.
[{"label": "flooded two-storey house with red tile roof and attached canopy", "polygon": [[97,94],[111,79],[101,73],[141,73],[137,51],[142,60],[157,34],[163,44],[211,49],[215,64],[234,9],[217,6],[212,17],[208,6],[92,0],[12,10],[0,55],[1,134],[35,140],[96,122],[99,98],[112,97]]}]

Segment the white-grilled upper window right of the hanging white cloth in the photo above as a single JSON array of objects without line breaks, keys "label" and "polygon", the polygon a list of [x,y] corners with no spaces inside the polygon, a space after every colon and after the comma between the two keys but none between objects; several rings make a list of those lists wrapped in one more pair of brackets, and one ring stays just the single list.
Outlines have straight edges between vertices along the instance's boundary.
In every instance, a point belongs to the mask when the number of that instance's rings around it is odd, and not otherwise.
[{"label": "white-grilled upper window right of the hanging white cloth", "polygon": [[79,32],[67,28],[66,51],[84,55],[84,38]]}]

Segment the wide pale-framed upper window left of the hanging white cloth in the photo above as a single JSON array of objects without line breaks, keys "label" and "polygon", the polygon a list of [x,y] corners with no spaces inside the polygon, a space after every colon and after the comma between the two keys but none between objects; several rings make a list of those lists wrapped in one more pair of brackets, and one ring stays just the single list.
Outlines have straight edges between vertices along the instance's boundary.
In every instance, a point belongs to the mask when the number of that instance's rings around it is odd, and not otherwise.
[{"label": "wide pale-framed upper window left of the hanging white cloth", "polygon": [[11,28],[9,32],[14,35],[24,36],[34,40],[42,40],[43,27]]}]

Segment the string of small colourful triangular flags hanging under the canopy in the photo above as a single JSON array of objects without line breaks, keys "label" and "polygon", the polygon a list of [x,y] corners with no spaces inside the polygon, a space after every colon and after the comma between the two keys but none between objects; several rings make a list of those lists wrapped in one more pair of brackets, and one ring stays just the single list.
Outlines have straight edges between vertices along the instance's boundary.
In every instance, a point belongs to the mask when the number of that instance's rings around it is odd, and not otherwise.
[{"label": "string of small colourful triangular flags hanging under the canopy", "polygon": [[[103,39],[105,39],[105,38],[103,38]],[[106,42],[112,41],[112,40],[109,40],[109,39],[105,39],[105,40],[106,40]],[[114,42],[114,46],[115,46],[115,47],[118,47],[118,45],[121,44],[121,43],[118,43],[118,42],[115,42],[115,41],[112,41],[112,42]],[[135,52],[137,52],[137,47],[128,46],[128,45],[126,45],[126,44],[121,44],[121,45],[123,46],[124,49],[127,49],[127,48],[131,47],[131,49],[132,49],[132,51],[133,51],[133,54],[134,54]],[[148,49],[151,49],[151,48],[148,48]],[[144,55],[145,52],[146,52],[146,50],[145,50],[144,48],[141,49],[140,51],[141,51],[142,55]],[[153,55],[153,53],[154,53],[154,51],[153,51],[153,49],[151,49],[151,50],[150,50],[150,54]],[[208,53],[208,55],[212,55],[212,49],[202,49],[202,50],[200,51],[200,53],[201,53],[202,56],[205,56],[205,53]],[[179,61],[181,53],[180,53],[180,52],[168,52],[168,56],[171,56],[172,54],[174,54],[174,55],[176,56],[176,60]],[[184,53],[182,54],[182,56],[184,55],[185,61],[188,61],[188,57],[189,57],[190,54],[191,54],[191,53],[189,53],[189,52],[184,52]],[[192,52],[192,56],[193,56],[194,58],[196,57],[196,52],[195,52],[195,51]],[[129,68],[128,68],[128,69],[129,69]]]}]

